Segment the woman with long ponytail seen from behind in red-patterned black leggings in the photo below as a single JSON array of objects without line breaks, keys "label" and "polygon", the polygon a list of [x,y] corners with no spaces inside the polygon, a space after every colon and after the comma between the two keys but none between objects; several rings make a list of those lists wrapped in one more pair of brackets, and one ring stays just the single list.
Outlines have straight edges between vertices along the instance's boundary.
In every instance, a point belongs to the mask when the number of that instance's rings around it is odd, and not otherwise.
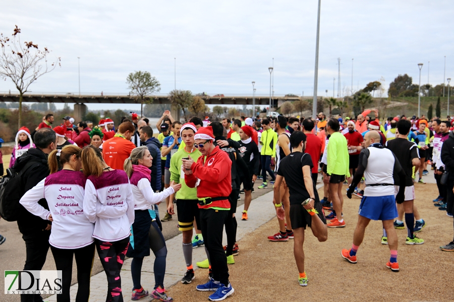
[{"label": "woman with long ponytail seen from behind in red-patterned black leggings", "polygon": [[94,222],[93,237],[107,275],[107,301],[123,301],[120,272],[134,222],[134,200],[128,175],[107,166],[99,148],[82,149],[82,169],[87,176],[84,214]]}]

